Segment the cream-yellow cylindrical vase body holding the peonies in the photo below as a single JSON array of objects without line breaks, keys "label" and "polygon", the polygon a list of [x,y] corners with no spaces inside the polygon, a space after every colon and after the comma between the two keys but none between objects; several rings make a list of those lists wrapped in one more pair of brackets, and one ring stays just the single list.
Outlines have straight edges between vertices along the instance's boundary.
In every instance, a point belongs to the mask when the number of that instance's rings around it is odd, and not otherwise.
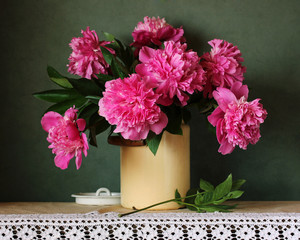
[{"label": "cream-yellow cylindrical vase body holding the peonies", "polygon": [[[190,128],[183,135],[164,132],[154,156],[147,146],[121,146],[121,205],[140,209],[175,197],[190,188]],[[171,202],[152,210],[177,209]],[[151,210],[151,209],[150,209]]]}]

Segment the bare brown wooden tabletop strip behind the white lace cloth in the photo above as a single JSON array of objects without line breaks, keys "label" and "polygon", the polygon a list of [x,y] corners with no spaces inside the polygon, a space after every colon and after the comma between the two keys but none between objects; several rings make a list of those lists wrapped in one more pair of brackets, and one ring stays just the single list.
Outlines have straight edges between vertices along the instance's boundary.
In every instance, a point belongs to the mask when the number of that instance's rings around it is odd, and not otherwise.
[{"label": "bare brown wooden tabletop strip behind the white lace cloth", "polygon": [[[300,213],[300,201],[230,201],[238,204],[236,213]],[[89,206],[71,202],[0,202],[0,214],[72,214],[119,212],[130,209],[121,206]],[[150,212],[150,211],[149,211]],[[164,211],[151,211],[164,212]],[[167,212],[191,212],[188,209],[169,210]]]}]

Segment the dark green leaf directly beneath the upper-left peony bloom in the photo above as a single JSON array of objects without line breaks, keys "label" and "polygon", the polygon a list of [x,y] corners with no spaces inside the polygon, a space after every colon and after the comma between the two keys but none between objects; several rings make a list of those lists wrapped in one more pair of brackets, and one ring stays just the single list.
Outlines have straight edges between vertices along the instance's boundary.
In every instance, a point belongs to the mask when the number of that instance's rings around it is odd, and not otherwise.
[{"label": "dark green leaf directly beneath the upper-left peony bloom", "polygon": [[81,79],[69,79],[72,86],[83,96],[100,96],[102,94],[102,89],[92,80],[85,78]]}]

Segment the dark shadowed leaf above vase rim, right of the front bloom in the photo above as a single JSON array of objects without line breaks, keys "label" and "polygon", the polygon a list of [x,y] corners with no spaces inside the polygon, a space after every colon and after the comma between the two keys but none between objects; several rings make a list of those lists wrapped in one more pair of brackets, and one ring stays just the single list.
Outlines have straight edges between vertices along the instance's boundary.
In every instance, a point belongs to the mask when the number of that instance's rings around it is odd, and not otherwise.
[{"label": "dark shadowed leaf above vase rim, right of the front bloom", "polygon": [[169,119],[166,130],[169,133],[182,135],[181,123],[182,114],[181,108],[179,106],[172,105],[168,108],[163,108],[164,112],[167,114]]}]

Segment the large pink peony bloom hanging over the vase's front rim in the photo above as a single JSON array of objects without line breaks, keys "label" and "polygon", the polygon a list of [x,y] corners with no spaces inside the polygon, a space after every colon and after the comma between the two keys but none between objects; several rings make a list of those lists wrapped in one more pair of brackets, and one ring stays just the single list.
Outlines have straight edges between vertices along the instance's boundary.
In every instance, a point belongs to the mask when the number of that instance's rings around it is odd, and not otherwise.
[{"label": "large pink peony bloom hanging over the vase's front rim", "polygon": [[146,139],[149,131],[160,134],[168,118],[156,105],[159,95],[148,88],[137,74],[108,81],[99,101],[99,115],[117,125],[115,133],[125,139]]}]

